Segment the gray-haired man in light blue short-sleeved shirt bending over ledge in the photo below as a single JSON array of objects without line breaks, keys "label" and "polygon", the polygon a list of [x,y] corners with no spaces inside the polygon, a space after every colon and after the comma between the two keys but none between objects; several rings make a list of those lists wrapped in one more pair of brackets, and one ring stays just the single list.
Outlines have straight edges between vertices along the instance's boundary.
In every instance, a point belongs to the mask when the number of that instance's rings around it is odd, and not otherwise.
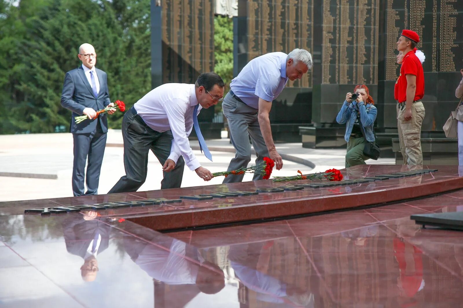
[{"label": "gray-haired man in light blue short-sleeved shirt bending over ledge", "polygon": [[[230,138],[236,149],[228,171],[245,167],[251,160],[249,136],[256,151],[256,165],[265,156],[275,161],[276,170],[283,166],[275,148],[270,128],[272,101],[283,91],[289,80],[301,79],[312,68],[312,55],[305,49],[294,49],[288,55],[271,52],[252,59],[230,84],[230,92],[222,103],[228,121]],[[241,182],[244,174],[228,176],[223,183]],[[254,173],[254,181],[263,175]]]}]

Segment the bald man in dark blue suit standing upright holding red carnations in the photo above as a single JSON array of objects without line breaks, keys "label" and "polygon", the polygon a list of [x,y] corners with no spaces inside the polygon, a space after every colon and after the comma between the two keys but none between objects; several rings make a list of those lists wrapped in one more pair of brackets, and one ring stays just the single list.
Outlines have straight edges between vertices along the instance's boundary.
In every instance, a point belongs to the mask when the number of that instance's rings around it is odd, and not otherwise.
[{"label": "bald man in dark blue suit standing upright holding red carnations", "polygon": [[[74,138],[74,166],[72,171],[72,192],[74,196],[84,195],[85,161],[87,166],[87,192],[96,195],[100,180],[100,169],[106,146],[108,123],[106,115],[96,111],[113,106],[109,100],[106,73],[95,68],[96,53],[92,45],[84,43],[79,47],[82,65],[66,73],[64,77],[61,105],[72,111],[71,133]],[[113,114],[115,111],[108,111]],[[76,124],[74,117],[89,117]]]}]

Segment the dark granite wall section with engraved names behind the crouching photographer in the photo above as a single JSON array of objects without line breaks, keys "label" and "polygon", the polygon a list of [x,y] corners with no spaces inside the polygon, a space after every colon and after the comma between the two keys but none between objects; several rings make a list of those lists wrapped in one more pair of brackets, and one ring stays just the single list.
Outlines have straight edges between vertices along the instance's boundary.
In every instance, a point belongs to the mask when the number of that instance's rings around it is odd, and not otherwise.
[{"label": "dark granite wall section with engraved names behind the crouching photographer", "polygon": [[366,84],[376,98],[379,0],[321,0],[315,6],[313,117],[330,126],[347,92]]}]

